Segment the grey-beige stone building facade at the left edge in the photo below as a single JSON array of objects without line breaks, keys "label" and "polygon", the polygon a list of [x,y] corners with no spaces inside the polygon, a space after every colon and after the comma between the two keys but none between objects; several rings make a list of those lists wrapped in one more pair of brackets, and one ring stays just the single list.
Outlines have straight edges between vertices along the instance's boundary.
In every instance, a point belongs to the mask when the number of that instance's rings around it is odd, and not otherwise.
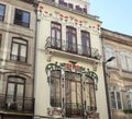
[{"label": "grey-beige stone building facade at the left edge", "polygon": [[28,0],[0,0],[0,119],[32,119],[36,14]]}]

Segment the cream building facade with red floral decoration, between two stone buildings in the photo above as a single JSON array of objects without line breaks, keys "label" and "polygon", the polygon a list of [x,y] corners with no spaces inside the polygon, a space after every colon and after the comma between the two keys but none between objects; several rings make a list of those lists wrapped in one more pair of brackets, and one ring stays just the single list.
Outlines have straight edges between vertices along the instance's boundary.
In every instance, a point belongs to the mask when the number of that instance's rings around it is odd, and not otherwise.
[{"label": "cream building facade with red floral decoration, between two stone buildings", "polygon": [[38,0],[35,119],[108,119],[101,22],[87,0]]}]

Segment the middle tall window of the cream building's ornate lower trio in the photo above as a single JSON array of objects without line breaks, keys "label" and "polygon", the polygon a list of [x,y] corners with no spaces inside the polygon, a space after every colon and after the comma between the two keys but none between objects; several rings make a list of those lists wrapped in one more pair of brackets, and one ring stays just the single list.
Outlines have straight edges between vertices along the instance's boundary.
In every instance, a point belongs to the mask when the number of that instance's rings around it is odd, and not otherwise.
[{"label": "middle tall window of the cream building's ornate lower trio", "polygon": [[66,116],[81,116],[82,90],[80,74],[66,72],[65,76]]}]

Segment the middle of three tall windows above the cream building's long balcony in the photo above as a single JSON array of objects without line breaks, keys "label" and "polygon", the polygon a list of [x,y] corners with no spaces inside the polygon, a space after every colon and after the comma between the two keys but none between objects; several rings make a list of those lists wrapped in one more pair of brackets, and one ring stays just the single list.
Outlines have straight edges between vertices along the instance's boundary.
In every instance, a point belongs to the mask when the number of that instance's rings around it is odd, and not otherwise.
[{"label": "middle of three tall windows above the cream building's long balcony", "polygon": [[76,29],[74,27],[66,27],[66,41],[67,50],[70,52],[77,52]]}]

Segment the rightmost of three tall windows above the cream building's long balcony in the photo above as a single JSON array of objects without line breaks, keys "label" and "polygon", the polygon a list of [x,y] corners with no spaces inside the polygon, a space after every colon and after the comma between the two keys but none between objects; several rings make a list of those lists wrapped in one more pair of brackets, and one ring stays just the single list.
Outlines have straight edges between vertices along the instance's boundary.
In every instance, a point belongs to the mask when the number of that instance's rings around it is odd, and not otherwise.
[{"label": "rightmost of three tall windows above the cream building's long balcony", "polygon": [[90,37],[88,32],[81,31],[81,49],[82,55],[90,56]]}]

